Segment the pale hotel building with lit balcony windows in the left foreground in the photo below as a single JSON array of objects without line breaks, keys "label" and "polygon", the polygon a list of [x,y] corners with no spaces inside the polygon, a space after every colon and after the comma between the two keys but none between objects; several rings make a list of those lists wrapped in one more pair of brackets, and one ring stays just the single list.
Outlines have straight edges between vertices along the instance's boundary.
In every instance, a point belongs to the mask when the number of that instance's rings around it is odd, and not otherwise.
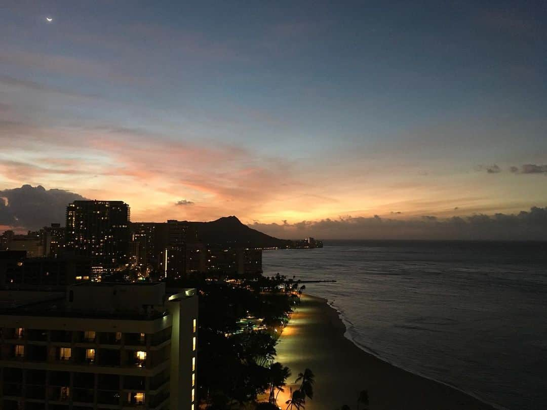
[{"label": "pale hotel building with lit balcony windows in the left foreground", "polygon": [[3,410],[197,410],[195,289],[0,291],[0,327]]}]

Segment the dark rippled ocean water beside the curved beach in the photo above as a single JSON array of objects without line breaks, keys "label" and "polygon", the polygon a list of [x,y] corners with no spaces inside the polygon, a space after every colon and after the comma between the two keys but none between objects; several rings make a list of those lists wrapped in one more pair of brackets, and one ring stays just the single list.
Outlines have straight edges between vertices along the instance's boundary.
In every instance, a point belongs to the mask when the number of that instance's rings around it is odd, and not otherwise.
[{"label": "dark rippled ocean water beside the curved beach", "polygon": [[264,251],[363,350],[498,408],[547,407],[547,243],[325,241]]}]

